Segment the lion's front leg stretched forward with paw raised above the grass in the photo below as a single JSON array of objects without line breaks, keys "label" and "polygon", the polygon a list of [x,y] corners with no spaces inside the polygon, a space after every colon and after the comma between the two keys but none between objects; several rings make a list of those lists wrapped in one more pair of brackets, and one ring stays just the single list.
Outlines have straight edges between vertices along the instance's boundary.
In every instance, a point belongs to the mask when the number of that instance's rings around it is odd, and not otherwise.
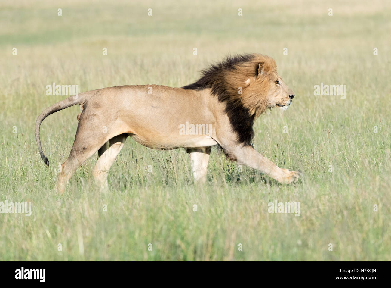
[{"label": "lion's front leg stretched forward with paw raised above the grass", "polygon": [[290,171],[278,167],[272,161],[256,152],[256,150],[249,145],[238,147],[233,150],[224,150],[224,152],[228,154],[230,159],[237,161],[239,164],[260,170],[282,184],[296,182],[301,177],[299,171]]}]

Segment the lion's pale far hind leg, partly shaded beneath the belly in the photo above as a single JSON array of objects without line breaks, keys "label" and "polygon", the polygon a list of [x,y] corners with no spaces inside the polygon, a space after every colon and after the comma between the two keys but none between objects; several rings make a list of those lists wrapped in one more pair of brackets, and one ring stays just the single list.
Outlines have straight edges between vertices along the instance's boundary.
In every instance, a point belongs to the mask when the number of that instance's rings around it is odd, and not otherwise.
[{"label": "lion's pale far hind leg, partly shaded beneath the belly", "polygon": [[128,134],[120,134],[111,138],[98,150],[98,161],[93,168],[92,175],[95,182],[101,187],[106,188],[108,186],[107,176],[111,165],[113,165],[115,158],[121,151]]}]

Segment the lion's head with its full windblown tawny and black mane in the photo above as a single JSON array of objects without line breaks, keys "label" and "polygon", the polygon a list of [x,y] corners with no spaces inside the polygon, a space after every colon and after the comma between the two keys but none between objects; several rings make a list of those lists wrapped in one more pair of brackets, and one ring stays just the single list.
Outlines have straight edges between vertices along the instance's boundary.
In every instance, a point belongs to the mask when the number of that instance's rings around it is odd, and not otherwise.
[{"label": "lion's head with its full windblown tawny and black mane", "polygon": [[253,138],[253,121],[268,108],[286,110],[294,94],[277,74],[276,62],[269,56],[245,54],[228,56],[202,71],[203,76],[183,89],[211,89],[226,103],[226,113],[240,142]]}]

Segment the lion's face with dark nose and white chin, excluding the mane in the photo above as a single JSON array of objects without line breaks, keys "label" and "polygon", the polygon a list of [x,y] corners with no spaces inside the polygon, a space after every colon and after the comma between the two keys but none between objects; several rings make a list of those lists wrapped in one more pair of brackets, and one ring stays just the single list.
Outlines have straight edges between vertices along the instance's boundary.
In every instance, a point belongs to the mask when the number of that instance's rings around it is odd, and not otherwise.
[{"label": "lion's face with dark nose and white chin, excluding the mane", "polygon": [[267,108],[278,107],[287,110],[294,97],[293,91],[282,81],[280,75],[271,72],[269,78],[269,92],[267,93]]}]

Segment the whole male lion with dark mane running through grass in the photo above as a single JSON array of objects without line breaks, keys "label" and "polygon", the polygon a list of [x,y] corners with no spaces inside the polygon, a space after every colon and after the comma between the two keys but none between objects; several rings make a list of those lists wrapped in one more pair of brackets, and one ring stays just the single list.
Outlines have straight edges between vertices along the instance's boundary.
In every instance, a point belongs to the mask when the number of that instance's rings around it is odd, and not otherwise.
[{"label": "whole male lion with dark mane running through grass", "polygon": [[[266,109],[286,110],[294,97],[268,56],[228,56],[205,69],[195,83],[182,88],[158,85],[116,86],[83,92],[45,109],[35,124],[43,161],[39,127],[48,115],[80,104],[75,141],[61,165],[57,187],[62,193],[75,170],[96,151],[97,183],[107,174],[128,136],[158,150],[183,147],[190,156],[195,181],[206,181],[210,149],[219,145],[228,159],[260,170],[280,183],[296,181],[300,172],[281,169],[251,145],[253,122]],[[190,124],[189,124],[190,123]]]}]

